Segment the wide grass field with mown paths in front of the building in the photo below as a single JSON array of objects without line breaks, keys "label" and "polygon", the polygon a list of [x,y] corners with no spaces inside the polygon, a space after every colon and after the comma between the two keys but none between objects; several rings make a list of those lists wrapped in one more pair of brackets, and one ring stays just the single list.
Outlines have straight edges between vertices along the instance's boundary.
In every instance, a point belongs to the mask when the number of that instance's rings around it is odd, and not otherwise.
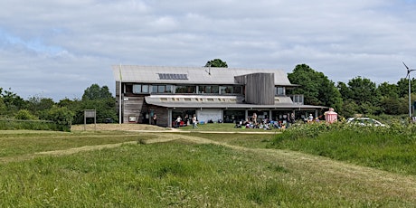
[{"label": "wide grass field with mown paths in front of the building", "polygon": [[277,134],[2,131],[0,207],[416,205],[415,175],[266,148]]}]

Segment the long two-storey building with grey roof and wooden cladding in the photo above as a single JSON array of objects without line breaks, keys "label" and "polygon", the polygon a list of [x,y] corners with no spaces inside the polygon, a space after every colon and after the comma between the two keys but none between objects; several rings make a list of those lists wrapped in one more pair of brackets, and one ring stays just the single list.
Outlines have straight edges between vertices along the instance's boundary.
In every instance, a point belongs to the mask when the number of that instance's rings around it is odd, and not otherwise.
[{"label": "long two-storey building with grey roof and wooden cladding", "polygon": [[304,105],[303,95],[287,95],[291,84],[281,70],[213,67],[114,65],[116,99],[122,123],[173,127],[175,119],[196,115],[199,122],[238,122],[317,117],[321,106]]}]

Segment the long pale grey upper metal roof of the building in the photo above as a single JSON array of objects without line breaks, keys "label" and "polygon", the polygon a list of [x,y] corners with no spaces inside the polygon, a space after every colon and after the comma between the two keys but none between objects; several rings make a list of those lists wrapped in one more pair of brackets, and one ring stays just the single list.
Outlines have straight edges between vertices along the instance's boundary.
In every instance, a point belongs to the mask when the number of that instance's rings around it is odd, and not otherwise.
[{"label": "long pale grey upper metal roof of the building", "polygon": [[[112,71],[116,81],[170,84],[234,84],[235,76],[251,73],[274,73],[275,85],[295,86],[290,84],[288,75],[282,70],[113,65]],[[162,73],[186,74],[187,80],[160,80],[159,74]]]}]

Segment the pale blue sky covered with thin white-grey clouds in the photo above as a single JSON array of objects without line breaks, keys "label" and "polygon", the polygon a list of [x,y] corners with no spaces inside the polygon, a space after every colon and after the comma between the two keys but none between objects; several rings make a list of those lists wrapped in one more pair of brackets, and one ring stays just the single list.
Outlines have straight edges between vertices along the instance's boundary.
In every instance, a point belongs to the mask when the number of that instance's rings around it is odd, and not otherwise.
[{"label": "pale blue sky covered with thin white-grey clouds", "polygon": [[[115,94],[111,66],[292,72],[380,84],[416,69],[414,0],[0,0],[0,88],[23,99]],[[412,75],[416,77],[416,74]]]}]

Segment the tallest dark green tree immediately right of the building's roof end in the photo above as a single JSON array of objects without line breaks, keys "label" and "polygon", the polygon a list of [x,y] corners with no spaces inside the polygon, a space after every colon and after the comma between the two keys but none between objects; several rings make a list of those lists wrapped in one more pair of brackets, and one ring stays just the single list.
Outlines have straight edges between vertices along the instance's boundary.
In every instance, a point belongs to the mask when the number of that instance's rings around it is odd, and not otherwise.
[{"label": "tallest dark green tree immediately right of the building's roof end", "polygon": [[336,110],[342,107],[342,97],[335,83],[322,72],[311,69],[307,64],[298,64],[288,80],[300,85],[292,91],[293,94],[303,94],[305,104],[332,107]]}]

